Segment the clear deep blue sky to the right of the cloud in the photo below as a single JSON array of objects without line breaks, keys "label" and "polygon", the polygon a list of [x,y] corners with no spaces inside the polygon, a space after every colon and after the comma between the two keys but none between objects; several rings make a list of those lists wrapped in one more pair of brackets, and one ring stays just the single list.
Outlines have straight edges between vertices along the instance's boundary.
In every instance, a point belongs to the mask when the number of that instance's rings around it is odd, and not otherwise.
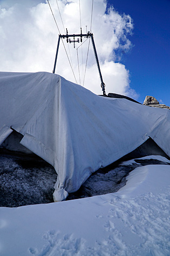
[{"label": "clear deep blue sky to the right of the cloud", "polygon": [[152,95],[170,105],[170,1],[110,0],[108,4],[133,18],[134,47],[121,63],[130,71],[130,86],[139,93],[138,101]]}]

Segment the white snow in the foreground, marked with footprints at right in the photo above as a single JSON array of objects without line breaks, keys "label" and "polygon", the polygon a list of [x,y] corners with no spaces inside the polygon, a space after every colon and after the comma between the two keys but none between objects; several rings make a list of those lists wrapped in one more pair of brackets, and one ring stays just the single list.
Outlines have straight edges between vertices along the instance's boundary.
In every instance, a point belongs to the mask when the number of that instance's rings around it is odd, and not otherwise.
[{"label": "white snow in the foreground, marked with footprints at right", "polygon": [[169,165],[146,165],[117,193],[2,207],[0,255],[169,255],[169,176]]}]

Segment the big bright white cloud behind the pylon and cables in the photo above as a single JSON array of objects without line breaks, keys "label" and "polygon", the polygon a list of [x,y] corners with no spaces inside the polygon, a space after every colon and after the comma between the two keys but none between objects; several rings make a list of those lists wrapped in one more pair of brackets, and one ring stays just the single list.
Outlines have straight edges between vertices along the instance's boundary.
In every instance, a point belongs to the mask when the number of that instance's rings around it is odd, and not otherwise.
[{"label": "big bright white cloud behind the pylon and cables", "polygon": [[[24,2],[24,3],[23,3]],[[65,34],[57,7],[63,18],[64,27],[69,34],[80,33],[79,0],[49,0],[61,34]],[[1,71],[14,72],[52,72],[58,41],[58,30],[53,20],[49,4],[40,0],[0,2],[0,67]],[[81,27],[83,33],[91,27],[91,0],[80,1]],[[105,0],[94,0],[92,33],[96,43],[101,73],[106,84],[106,93],[121,93],[137,98],[130,88],[130,75],[124,65],[115,63],[119,60],[117,50],[128,51],[132,44],[127,38],[132,33],[133,21],[129,15],[120,15],[113,8],[106,10]],[[83,39],[85,40],[85,39]],[[65,40],[63,40],[65,42]],[[83,72],[89,40],[76,44],[79,53],[80,80]],[[79,82],[77,50],[65,42],[67,53],[71,52],[71,62]],[[118,51],[118,52],[119,52]],[[83,55],[83,63],[82,56]],[[69,54],[70,56],[70,54]],[[69,61],[62,41],[60,42],[56,73],[73,82]],[[84,86],[94,93],[101,94],[100,79],[93,49],[90,43]]]}]

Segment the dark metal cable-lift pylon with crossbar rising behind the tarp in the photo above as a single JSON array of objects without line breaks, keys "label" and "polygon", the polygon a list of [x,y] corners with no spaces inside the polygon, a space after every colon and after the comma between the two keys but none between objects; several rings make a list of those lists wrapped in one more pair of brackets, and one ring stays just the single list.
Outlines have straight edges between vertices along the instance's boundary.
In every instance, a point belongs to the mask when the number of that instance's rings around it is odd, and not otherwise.
[{"label": "dark metal cable-lift pylon with crossbar rising behind the tarp", "polygon": [[[103,78],[102,78],[102,75],[101,75],[101,71],[100,71],[100,65],[99,65],[99,60],[98,60],[98,56],[97,56],[97,50],[96,50],[96,46],[95,46],[95,43],[94,43],[94,39],[93,39],[93,34],[88,32],[87,34],[68,34],[68,31],[66,29],[66,32],[67,34],[66,35],[59,35],[58,36],[58,43],[57,43],[57,50],[56,50],[56,58],[55,58],[55,65],[54,65],[54,68],[53,68],[53,71],[52,73],[55,73],[55,70],[56,70],[56,63],[57,63],[57,56],[58,56],[58,50],[59,50],[59,42],[60,42],[60,39],[65,39],[67,40],[67,43],[74,43],[74,48],[75,48],[75,43],[76,42],[82,42],[82,37],[85,37],[85,38],[89,38],[91,37],[91,40],[92,40],[92,46],[93,46],[93,49],[94,49],[94,55],[96,57],[96,62],[97,62],[97,66],[98,66],[98,71],[99,71],[99,75],[100,75],[100,80],[101,80],[101,88],[102,88],[102,91],[103,91],[103,95],[105,95],[105,84],[103,82]],[[73,40],[69,39],[69,37],[73,37]],[[75,37],[80,37],[80,40],[75,40]]]}]

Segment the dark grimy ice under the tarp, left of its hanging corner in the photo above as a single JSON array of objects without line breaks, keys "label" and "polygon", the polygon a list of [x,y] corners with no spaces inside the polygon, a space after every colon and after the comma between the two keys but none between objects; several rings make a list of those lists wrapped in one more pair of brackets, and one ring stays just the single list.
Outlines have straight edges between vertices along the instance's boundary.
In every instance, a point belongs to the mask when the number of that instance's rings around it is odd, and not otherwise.
[{"label": "dark grimy ice under the tarp, left of its hanging corner", "polygon": [[57,174],[43,159],[0,156],[0,206],[50,203]]}]

